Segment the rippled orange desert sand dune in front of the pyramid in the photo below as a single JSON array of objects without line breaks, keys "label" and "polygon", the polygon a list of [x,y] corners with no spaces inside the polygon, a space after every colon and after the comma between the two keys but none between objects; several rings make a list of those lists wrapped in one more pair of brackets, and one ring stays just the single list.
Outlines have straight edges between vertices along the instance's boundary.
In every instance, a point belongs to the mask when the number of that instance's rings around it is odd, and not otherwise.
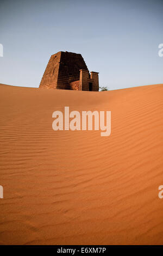
[{"label": "rippled orange desert sand dune in front of the pyramid", "polygon": [[[78,92],[0,84],[1,245],[163,244],[163,85]],[[54,131],[111,111],[111,135]]]}]

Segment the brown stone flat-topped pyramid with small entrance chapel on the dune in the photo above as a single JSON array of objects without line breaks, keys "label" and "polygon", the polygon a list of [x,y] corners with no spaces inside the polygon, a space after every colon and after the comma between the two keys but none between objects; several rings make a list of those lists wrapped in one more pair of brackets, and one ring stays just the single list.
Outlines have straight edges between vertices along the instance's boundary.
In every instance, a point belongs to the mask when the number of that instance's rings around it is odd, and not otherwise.
[{"label": "brown stone flat-topped pyramid with small entrance chapel on the dune", "polygon": [[98,72],[90,75],[81,54],[58,52],[49,59],[39,87],[98,92]]}]

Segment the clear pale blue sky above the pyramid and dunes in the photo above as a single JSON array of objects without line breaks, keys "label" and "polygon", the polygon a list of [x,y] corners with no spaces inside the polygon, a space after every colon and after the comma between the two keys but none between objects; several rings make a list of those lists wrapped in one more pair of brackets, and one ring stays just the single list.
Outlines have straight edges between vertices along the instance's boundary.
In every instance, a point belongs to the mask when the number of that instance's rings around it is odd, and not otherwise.
[{"label": "clear pale blue sky above the pyramid and dunes", "polygon": [[81,53],[110,90],[163,83],[162,0],[1,0],[0,83],[39,87],[52,54]]}]

